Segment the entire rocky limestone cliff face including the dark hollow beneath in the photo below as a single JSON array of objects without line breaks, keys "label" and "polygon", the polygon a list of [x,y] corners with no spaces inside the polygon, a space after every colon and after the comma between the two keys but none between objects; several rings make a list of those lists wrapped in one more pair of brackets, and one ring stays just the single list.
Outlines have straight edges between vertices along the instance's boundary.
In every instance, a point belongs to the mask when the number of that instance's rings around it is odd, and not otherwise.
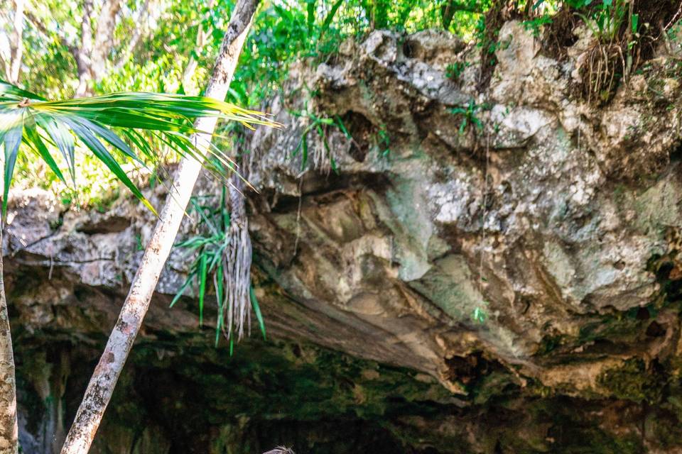
[{"label": "entire rocky limestone cliff face including the dark hollow beneath", "polygon": [[[246,147],[269,341],[230,359],[191,297],[168,309],[176,250],[97,452],[682,452],[678,51],[595,106],[575,38],[558,55],[506,23],[483,92],[478,50],[431,31],[293,68],[287,128]],[[304,163],[310,114],[344,127]],[[15,194],[29,452],[63,436],[152,226]]]}]

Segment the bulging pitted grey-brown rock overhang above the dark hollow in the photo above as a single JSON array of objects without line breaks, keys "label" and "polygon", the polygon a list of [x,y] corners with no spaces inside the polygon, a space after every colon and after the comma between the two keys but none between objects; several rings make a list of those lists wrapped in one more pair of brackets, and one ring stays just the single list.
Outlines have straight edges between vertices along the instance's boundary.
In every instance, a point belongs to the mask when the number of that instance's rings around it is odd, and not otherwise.
[{"label": "bulging pitted grey-brown rock overhang above the dark hollow", "polygon": [[[512,22],[500,32],[509,45],[497,52],[489,90],[477,94],[467,89],[475,65],[459,85],[445,77],[445,62],[469,55],[454,38],[399,38],[375,32],[316,69],[316,109],[345,120],[354,138],[327,131],[339,176],[306,172],[300,186],[300,161],[286,150],[305,122],[284,112],[278,120],[295,126],[252,143],[257,186],[280,198],[303,188],[300,214],[295,199],[264,202],[251,224],[267,274],[308,311],[336,320],[311,330],[322,338],[308,337],[429,372],[455,392],[464,389],[448,361],[475,352],[521,386],[531,378],[556,387],[561,377],[603,396],[612,395],[595,382],[603,370],[673,354],[676,317],[653,309],[664,289],[652,262],[675,250],[669,240],[682,221],[674,92],[661,110],[658,95],[638,91],[651,84],[640,75],[606,108],[573,99],[575,62],[542,55]],[[443,61],[428,51],[434,40],[460,54]],[[633,310],[655,311],[642,324],[665,335],[623,348],[599,332]],[[353,336],[328,336],[347,326]],[[586,338],[588,327],[597,332]],[[555,374],[561,354],[588,361],[595,376]]]}]

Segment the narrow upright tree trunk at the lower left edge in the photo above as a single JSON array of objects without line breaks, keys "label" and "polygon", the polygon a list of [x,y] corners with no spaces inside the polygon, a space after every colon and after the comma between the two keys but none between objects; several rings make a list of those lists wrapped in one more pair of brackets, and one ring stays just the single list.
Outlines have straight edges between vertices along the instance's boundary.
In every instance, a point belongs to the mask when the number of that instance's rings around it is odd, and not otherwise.
[{"label": "narrow upright tree trunk at the lower left edge", "polygon": [[18,452],[18,426],[16,423],[16,379],[12,336],[9,331],[9,314],[5,285],[2,279],[2,228],[0,226],[0,454]]}]

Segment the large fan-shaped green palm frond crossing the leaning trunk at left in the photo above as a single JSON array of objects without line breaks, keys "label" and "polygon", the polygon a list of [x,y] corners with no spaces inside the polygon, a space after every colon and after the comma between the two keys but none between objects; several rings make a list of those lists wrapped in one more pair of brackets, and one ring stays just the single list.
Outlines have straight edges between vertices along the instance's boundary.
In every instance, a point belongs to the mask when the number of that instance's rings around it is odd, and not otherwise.
[{"label": "large fan-shaped green palm frond crossing the leaning trunk at left", "polygon": [[[234,170],[232,162],[217,148],[210,146],[202,153],[190,140],[202,133],[193,121],[200,117],[217,117],[239,121],[248,128],[254,125],[279,126],[261,112],[242,109],[203,96],[155,93],[113,93],[90,98],[48,101],[42,96],[0,80],[0,144],[4,145],[4,188],[2,214],[7,209],[14,165],[21,143],[33,150],[65,181],[52,153],[58,150],[75,184],[75,144],[80,141],[151,211],[156,210],[129,179],[112,150],[139,165],[156,162],[158,150],[149,138],[157,138],[180,155],[195,157],[214,174],[218,172],[207,157]],[[126,141],[127,140],[127,141]],[[130,144],[130,145],[129,145]],[[215,167],[215,168],[214,168]],[[222,168],[222,167],[221,167]]]}]

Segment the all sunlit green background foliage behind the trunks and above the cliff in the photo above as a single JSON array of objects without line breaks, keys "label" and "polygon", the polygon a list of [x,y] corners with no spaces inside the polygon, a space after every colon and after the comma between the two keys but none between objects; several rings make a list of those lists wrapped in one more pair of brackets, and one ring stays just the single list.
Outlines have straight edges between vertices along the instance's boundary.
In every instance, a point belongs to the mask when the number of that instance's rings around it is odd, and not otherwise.
[{"label": "all sunlit green background foliage behind the trunks and above the cliff", "polygon": [[[229,18],[234,1],[178,0],[155,4],[156,16],[151,21],[136,21],[135,12],[144,5],[144,0],[129,0],[121,9],[114,29],[114,45],[109,55],[108,69],[101,80],[94,83],[95,93],[119,91],[144,92],[200,92],[205,86],[213,60],[220,47],[224,26]],[[372,30],[389,30],[413,33],[426,29],[447,30],[464,40],[476,40],[482,50],[482,79],[489,77],[495,65],[494,53],[501,46],[497,34],[506,19],[497,11],[511,11],[511,17],[519,17],[524,26],[538,35],[543,26],[553,20],[553,14],[568,9],[595,28],[604,40],[610,40],[619,24],[630,23],[631,43],[639,39],[644,24],[637,13],[629,16],[624,8],[625,0],[515,0],[501,2],[493,0],[278,0],[264,2],[254,20],[254,27],[247,38],[247,45],[234,74],[227,101],[241,106],[261,109],[266,100],[286,91],[288,70],[297,62],[315,65],[335,57],[345,40],[362,40]],[[501,9],[501,6],[503,7]],[[643,7],[643,6],[642,6]],[[637,8],[640,8],[638,5]],[[60,99],[73,96],[77,86],[77,65],[72,48],[80,44],[82,16],[81,2],[45,0],[33,2],[31,14],[24,31],[24,67],[22,82],[27,87],[37,87],[50,98]],[[129,55],[126,45],[129,38],[141,32],[142,38]],[[205,34],[206,40],[197,44],[197,37]],[[68,47],[65,44],[69,44]],[[615,51],[614,51],[615,52]],[[627,52],[626,52],[627,53]],[[634,53],[634,52],[633,52]],[[197,70],[186,77],[188,62],[197,62]],[[624,55],[626,67],[634,65],[630,55]],[[596,65],[597,62],[595,62]],[[456,62],[448,67],[447,75],[458,79],[466,63]],[[597,65],[598,66],[598,65]],[[604,65],[602,65],[603,67]],[[611,80],[612,70],[597,78]],[[188,86],[183,84],[183,75]],[[589,79],[585,77],[585,79]],[[617,77],[616,77],[617,79]],[[616,81],[617,82],[617,81]],[[480,87],[485,83],[479,81]],[[608,84],[607,84],[608,85]],[[613,84],[615,85],[615,83]],[[597,95],[612,91],[609,87],[597,87]],[[604,95],[606,96],[606,95]],[[319,116],[324,117],[322,113]],[[472,118],[466,123],[471,124]],[[321,126],[321,125],[320,125]],[[329,125],[327,125],[329,126]],[[465,126],[467,127],[467,126]],[[317,128],[315,128],[316,130]],[[129,143],[127,138],[123,138]],[[166,148],[163,141],[151,138],[153,148]],[[131,143],[129,143],[131,145]],[[131,145],[132,146],[132,145]],[[300,145],[303,148],[303,141]],[[380,147],[383,148],[383,147]],[[383,148],[383,150],[386,150]],[[299,150],[302,151],[303,150]],[[171,156],[175,153],[171,153]],[[47,186],[36,172],[36,160],[18,159],[16,174],[20,179]],[[166,158],[164,158],[166,159]],[[143,157],[144,160],[144,157]],[[62,162],[56,160],[58,164]],[[153,162],[146,162],[153,167]],[[102,163],[95,157],[86,156],[79,165],[92,169],[87,172],[92,178],[83,178],[83,192],[92,184],[91,194],[85,199],[107,199],[114,192],[115,179],[104,177],[106,172],[97,172]],[[34,168],[29,168],[33,166]],[[132,169],[134,170],[134,169]],[[131,169],[127,170],[128,172]],[[152,172],[155,170],[152,168]],[[84,169],[80,169],[84,173]],[[63,199],[77,201],[78,196],[71,186],[53,179]],[[99,184],[105,182],[107,184]],[[28,184],[28,183],[27,183]],[[97,188],[97,189],[95,189]],[[98,203],[98,202],[97,202]]]}]

